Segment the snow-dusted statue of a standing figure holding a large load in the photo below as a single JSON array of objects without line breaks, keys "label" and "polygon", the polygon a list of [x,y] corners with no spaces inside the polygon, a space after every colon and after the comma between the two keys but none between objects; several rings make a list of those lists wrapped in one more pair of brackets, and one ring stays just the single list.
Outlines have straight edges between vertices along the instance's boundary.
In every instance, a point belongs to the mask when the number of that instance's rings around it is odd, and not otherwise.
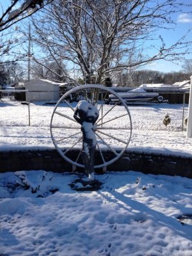
[{"label": "snow-dusted statue of a standing figure holding a large load", "polygon": [[74,111],[74,118],[81,124],[83,132],[83,152],[82,159],[88,179],[95,180],[94,175],[94,155],[97,144],[95,136],[95,122],[99,118],[98,109],[86,100],[80,100]]}]

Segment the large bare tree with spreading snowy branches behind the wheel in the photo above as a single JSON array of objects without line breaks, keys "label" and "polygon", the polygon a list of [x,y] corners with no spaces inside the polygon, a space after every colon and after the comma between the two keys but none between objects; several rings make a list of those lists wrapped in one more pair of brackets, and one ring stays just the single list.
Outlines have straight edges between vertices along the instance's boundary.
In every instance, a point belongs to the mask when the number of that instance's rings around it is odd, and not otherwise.
[{"label": "large bare tree with spreading snowy branches behind the wheel", "polygon": [[184,37],[166,45],[159,35],[155,44],[156,31],[170,28],[170,15],[180,7],[175,0],[54,0],[33,19],[33,40],[47,58],[74,63],[87,83],[102,83],[123,70],[177,60],[189,51]]}]

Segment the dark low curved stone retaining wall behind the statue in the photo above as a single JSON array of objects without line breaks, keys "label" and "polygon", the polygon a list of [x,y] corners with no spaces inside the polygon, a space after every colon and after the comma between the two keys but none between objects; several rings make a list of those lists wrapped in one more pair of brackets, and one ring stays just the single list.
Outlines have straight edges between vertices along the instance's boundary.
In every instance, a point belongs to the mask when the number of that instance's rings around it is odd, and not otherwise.
[{"label": "dark low curved stone retaining wall behind the statue", "polygon": [[[73,151],[72,154],[77,154]],[[108,154],[109,152],[103,152]],[[95,154],[97,164],[97,154]],[[72,165],[67,163],[56,150],[19,150],[0,152],[0,172],[20,170],[45,170],[52,172],[72,172]],[[179,175],[192,178],[192,156],[167,156],[165,154],[127,151],[115,163],[107,167],[108,171],[134,170],[143,173]],[[77,171],[83,172],[81,168]],[[96,169],[101,173],[103,170]]]}]

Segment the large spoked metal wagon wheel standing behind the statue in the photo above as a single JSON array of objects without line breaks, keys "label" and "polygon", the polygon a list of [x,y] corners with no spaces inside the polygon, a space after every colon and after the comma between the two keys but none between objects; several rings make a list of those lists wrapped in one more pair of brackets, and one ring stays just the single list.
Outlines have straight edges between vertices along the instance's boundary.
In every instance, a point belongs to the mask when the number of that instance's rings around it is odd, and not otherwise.
[{"label": "large spoked metal wagon wheel standing behind the statue", "polygon": [[[121,105],[119,102],[105,104],[109,94],[115,95]],[[100,84],[77,86],[58,100],[51,117],[52,142],[68,163],[83,168],[81,125],[73,117],[78,100],[87,100],[99,110],[94,131],[97,136],[97,164],[94,168],[105,168],[122,156],[129,145],[132,132],[129,109],[118,93]]]}]

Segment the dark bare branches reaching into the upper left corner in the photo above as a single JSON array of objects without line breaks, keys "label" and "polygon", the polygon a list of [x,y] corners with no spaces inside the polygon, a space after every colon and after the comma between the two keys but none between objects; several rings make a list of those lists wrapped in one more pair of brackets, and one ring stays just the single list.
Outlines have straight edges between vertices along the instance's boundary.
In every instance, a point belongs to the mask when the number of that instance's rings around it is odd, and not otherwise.
[{"label": "dark bare branches reaching into the upper left corner", "polygon": [[0,3],[0,65],[4,65],[5,61],[12,63],[23,57],[19,54],[18,48],[26,39],[19,38],[19,26],[13,26],[13,24],[31,16],[51,1],[10,0],[4,1],[4,4]]}]

